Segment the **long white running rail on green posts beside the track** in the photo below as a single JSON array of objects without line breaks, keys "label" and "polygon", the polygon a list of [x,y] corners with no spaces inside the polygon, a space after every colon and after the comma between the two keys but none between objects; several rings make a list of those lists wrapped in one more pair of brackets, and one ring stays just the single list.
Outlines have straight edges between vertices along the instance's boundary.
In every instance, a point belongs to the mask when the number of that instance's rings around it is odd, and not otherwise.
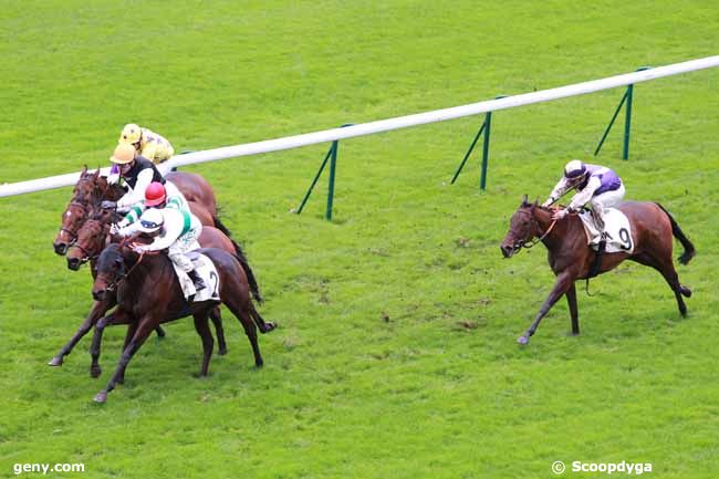
[{"label": "long white running rail on green posts beside the track", "polygon": [[[317,143],[333,142],[335,139],[390,132],[393,129],[407,128],[409,126],[445,122],[447,119],[461,118],[463,116],[478,115],[486,112],[494,112],[498,110],[513,108],[515,106],[531,105],[533,103],[549,102],[552,100],[565,98],[567,96],[583,95],[586,93],[598,92],[601,90],[608,90],[617,86],[647,82],[649,80],[694,72],[697,70],[710,69],[713,66],[719,66],[719,55],[707,56],[704,59],[691,60],[682,63],[675,63],[671,65],[659,66],[650,70],[626,73],[623,75],[609,76],[601,80],[593,80],[590,82],[576,83],[558,88],[542,90],[540,92],[507,96],[499,100],[489,100],[484,102],[472,103],[469,105],[435,110],[433,112],[381,119],[377,122],[361,123],[358,125],[347,126],[344,128],[325,129],[323,132],[286,136],[283,138],[268,139],[264,142],[247,143],[236,146],[223,146],[221,148],[188,153],[170,158],[168,162],[164,163],[163,166],[170,168],[173,166],[195,165],[198,163],[215,162],[217,159],[279,152],[282,149],[296,148],[300,146],[314,145]],[[110,168],[103,168],[102,174],[106,175],[108,169]],[[73,173],[49,178],[33,179],[30,181],[0,185],[0,197],[22,195],[25,192],[71,186],[77,181],[79,175],[79,173]]]}]

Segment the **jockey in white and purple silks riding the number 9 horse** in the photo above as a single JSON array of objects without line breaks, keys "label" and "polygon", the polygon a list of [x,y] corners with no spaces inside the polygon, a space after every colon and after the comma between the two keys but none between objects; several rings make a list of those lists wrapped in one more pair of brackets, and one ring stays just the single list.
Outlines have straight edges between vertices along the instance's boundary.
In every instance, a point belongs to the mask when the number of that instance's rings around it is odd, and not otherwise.
[{"label": "jockey in white and purple silks riding the number 9 horse", "polygon": [[552,219],[562,219],[571,211],[579,211],[587,202],[592,216],[602,235],[600,249],[606,244],[604,211],[617,207],[624,199],[624,184],[616,173],[598,165],[590,165],[573,159],[564,167],[564,176],[556,184],[550,197],[542,206],[548,207],[565,192],[576,188],[576,195],[570,205],[554,212]]}]

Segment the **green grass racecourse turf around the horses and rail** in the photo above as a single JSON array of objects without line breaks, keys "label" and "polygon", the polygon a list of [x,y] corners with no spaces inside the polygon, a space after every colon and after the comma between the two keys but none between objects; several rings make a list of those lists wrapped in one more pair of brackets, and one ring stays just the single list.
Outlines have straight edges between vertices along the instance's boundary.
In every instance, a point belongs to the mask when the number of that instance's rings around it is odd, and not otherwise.
[{"label": "green grass racecourse turf around the horses and rail", "polygon": [[[106,166],[127,122],[199,150],[709,56],[719,40],[710,1],[2,10],[0,183]],[[198,379],[199,339],[176,322],[104,406],[124,329],[105,334],[100,379],[88,340],[45,366],[91,304],[87,271],[51,247],[70,188],[0,198],[0,477],[82,462],[48,477],[546,478],[555,460],[625,460],[716,478],[718,91],[717,69],[637,85],[631,159],[621,124],[596,159],[695,242],[678,269],[689,316],[627,263],[580,294],[581,336],[560,301],[523,348],[553,275],[543,247],[503,260],[499,243],[523,194],[544,199],[566,160],[592,159],[623,90],[498,112],[486,192],[478,156],[449,185],[480,117],[342,142],[332,222],[326,177],[290,214],[327,145],[186,168],[213,185],[280,329],[256,371],[225,310],[230,352]]]}]

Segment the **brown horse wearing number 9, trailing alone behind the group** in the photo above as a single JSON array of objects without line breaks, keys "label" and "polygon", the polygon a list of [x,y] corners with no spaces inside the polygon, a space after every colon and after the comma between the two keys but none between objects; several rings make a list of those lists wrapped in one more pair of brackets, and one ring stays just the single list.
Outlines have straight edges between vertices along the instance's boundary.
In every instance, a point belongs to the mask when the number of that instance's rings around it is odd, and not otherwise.
[{"label": "brown horse wearing number 9, trailing alone behind the group", "polygon": [[[657,270],[669,283],[674,291],[682,316],[687,306],[682,295],[689,298],[691,290],[679,283],[679,277],[671,261],[673,240],[676,237],[685,251],[679,257],[681,264],[687,264],[696,254],[694,244],[684,235],[679,225],[659,204],[656,202],[624,202],[619,210],[626,215],[632,225],[634,252],[604,253],[597,274],[607,272],[622,261],[629,259]],[[549,263],[556,275],[554,288],[540,308],[534,321],[519,339],[518,343],[529,343],[540,321],[556,303],[566,295],[572,317],[572,334],[580,334],[579,312],[576,306],[576,290],[574,282],[591,277],[596,253],[586,243],[584,226],[577,215],[569,215],[559,221],[552,220],[554,210],[522,200],[519,209],[512,216],[509,232],[502,241],[501,250],[504,258],[510,258],[522,247],[531,248],[528,242],[539,238],[549,250]]]}]

